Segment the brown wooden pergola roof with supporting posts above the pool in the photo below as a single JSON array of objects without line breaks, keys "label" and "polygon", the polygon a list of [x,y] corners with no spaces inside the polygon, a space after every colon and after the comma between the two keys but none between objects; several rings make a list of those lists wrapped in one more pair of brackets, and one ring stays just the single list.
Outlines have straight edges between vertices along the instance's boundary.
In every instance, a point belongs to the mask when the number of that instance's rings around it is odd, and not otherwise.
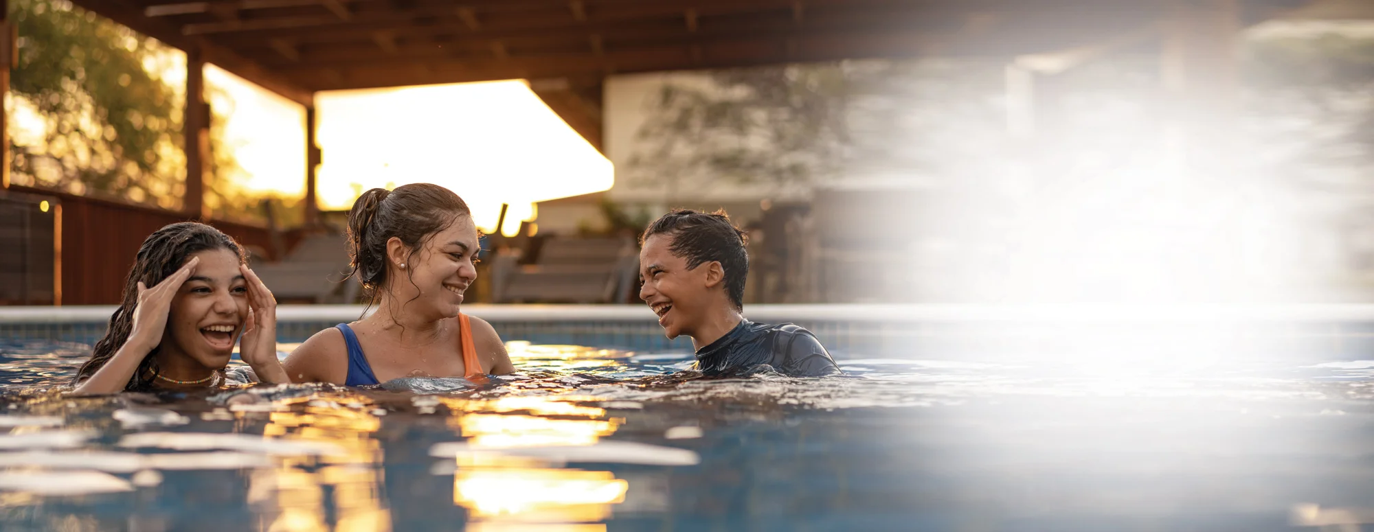
[{"label": "brown wooden pergola roof with supporting posts above the pool", "polygon": [[[603,81],[625,73],[922,56],[1011,62],[1059,53],[1083,62],[1139,51],[1162,58],[1168,90],[1224,103],[1235,78],[1238,32],[1318,0],[73,1],[187,53],[191,178],[177,215],[207,218],[202,195],[210,114],[202,67],[214,63],[305,107],[305,204],[306,221],[313,222],[322,158],[315,143],[319,90],[523,78],[598,149]],[[5,25],[0,30],[8,27],[8,21],[0,22]],[[8,90],[14,30],[0,34],[11,36],[0,37],[0,90]],[[10,145],[5,122],[0,111],[0,151]],[[0,152],[0,160],[10,155]],[[8,174],[8,163],[0,165],[3,188],[10,186]],[[159,219],[146,225],[155,228]],[[85,223],[96,228],[109,221]],[[81,237],[85,244],[67,244],[65,262],[111,256],[106,247],[117,245],[88,233]],[[69,230],[62,239],[76,237]],[[85,251],[76,255],[76,248]],[[92,287],[89,295],[74,298],[81,302],[103,302],[109,295],[100,291],[113,284],[103,277],[82,281],[71,271],[59,277]]]}]

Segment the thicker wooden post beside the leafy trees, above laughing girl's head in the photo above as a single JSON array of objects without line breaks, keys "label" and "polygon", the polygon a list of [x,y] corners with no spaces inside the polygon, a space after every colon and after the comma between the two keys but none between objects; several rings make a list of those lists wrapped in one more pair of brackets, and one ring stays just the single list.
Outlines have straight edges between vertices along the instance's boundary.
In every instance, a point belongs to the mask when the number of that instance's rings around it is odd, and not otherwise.
[{"label": "thicker wooden post beside the leafy trees, above laughing girl's head", "polygon": [[209,219],[205,210],[205,174],[210,165],[210,107],[205,103],[205,59],[199,48],[185,51],[185,203],[195,219]]}]

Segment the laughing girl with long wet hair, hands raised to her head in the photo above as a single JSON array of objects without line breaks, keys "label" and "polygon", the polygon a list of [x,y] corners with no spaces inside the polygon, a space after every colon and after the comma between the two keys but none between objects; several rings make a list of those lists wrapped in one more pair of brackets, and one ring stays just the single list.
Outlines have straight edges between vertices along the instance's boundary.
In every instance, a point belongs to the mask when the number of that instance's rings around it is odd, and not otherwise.
[{"label": "laughing girl with long wet hair, hands raised to her head", "polygon": [[276,300],[227,234],[195,222],[148,234],[124,281],[124,300],[77,395],[224,384],[235,340],[264,383],[290,383],[276,359]]}]

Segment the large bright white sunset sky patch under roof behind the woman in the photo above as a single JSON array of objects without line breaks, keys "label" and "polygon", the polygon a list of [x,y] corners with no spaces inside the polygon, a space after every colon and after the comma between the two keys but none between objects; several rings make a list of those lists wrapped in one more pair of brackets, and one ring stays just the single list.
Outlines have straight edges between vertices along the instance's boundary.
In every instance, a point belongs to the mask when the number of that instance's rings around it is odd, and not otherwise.
[{"label": "large bright white sunset sky patch under roof behind the woman", "polygon": [[609,189],[610,160],[523,81],[323,92],[316,96],[324,210],[361,191],[433,182],[458,192],[477,226],[507,233],[533,203]]}]

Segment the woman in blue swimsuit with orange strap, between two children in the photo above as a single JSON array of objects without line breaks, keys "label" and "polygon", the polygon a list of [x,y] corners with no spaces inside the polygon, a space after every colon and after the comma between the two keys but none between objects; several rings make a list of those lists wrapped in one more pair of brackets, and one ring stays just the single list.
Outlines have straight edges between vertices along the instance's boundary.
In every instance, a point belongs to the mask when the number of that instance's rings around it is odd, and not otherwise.
[{"label": "woman in blue swimsuit with orange strap, between two children", "polygon": [[324,329],[286,358],[297,383],[379,384],[515,370],[496,329],[460,311],[477,278],[477,226],[462,197],[431,184],[374,188],[348,215],[353,271],[376,311]]}]

